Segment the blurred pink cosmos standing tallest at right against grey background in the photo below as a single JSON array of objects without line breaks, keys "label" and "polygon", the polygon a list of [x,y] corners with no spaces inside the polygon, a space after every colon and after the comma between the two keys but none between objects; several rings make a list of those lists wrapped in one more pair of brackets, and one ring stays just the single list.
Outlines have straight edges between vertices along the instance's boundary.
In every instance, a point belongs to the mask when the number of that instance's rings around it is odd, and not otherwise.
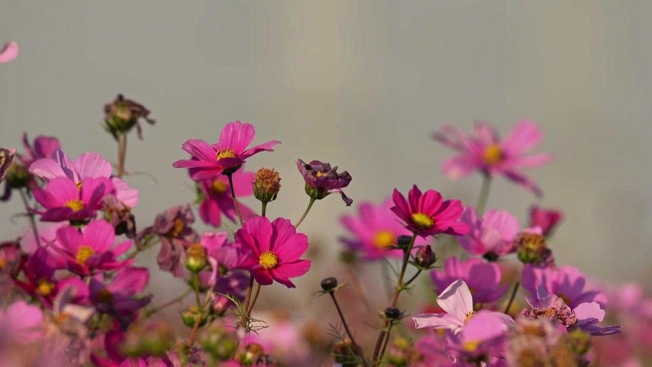
[{"label": "blurred pink cosmos standing tallest at right against grey background", "polygon": [[503,174],[512,182],[541,196],[541,189],[519,172],[520,168],[539,167],[552,159],[548,153],[525,155],[539,143],[541,136],[541,130],[535,123],[521,121],[501,140],[493,127],[479,121],[475,123],[473,136],[445,125],[432,138],[460,153],[446,159],[441,167],[449,178],[466,177],[475,170],[489,177]]}]

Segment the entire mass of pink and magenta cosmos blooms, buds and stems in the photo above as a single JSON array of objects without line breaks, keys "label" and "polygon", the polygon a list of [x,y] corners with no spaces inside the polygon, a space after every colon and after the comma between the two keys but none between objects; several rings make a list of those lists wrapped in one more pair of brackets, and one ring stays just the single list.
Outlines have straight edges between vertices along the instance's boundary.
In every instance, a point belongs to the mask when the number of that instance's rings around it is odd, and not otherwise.
[{"label": "entire mass of pink and magenta cosmos blooms, buds and stems", "polygon": [[[8,44],[0,63],[17,54],[16,44]],[[308,206],[294,224],[271,220],[266,209],[280,191],[279,173],[248,172],[244,165],[256,153],[273,152],[279,142],[248,148],[254,127],[231,122],[215,144],[186,141],[182,149],[190,159],[173,163],[195,182],[196,202],[170,208],[138,231],[131,210],[139,193],[123,181],[129,174],[126,138],[134,127],[142,137],[141,119],[155,120],[122,95],[106,104],[104,113],[106,131],[117,142],[115,173],[97,153],[72,161],[50,136],[38,136],[33,144],[23,136],[23,153],[0,148],[5,182],[0,199],[18,192],[31,224],[31,231],[0,244],[0,287],[7,295],[0,308],[0,366],[272,366],[280,363],[274,357],[280,344],[299,353],[296,325],[272,327],[272,342],[263,342],[256,334],[265,326],[252,310],[262,285],[293,288],[290,279],[310,270],[310,261],[301,259],[308,237],[297,227],[314,202],[331,193],[351,206],[342,191],[351,175],[328,163],[297,159]],[[477,123],[472,136],[445,126],[434,139],[459,153],[443,163],[447,176],[481,172],[481,198],[475,207],[463,206],[414,185],[407,197],[394,189],[382,204],[363,202],[358,216],[342,217],[350,232],[341,238],[346,266],[394,260],[398,268],[390,304],[380,313],[378,338],[368,348],[356,341],[336,298],[347,283],[321,281],[319,293],[333,300],[344,328],[334,327],[339,340],[327,341],[336,366],[636,366],[632,351],[652,342],[647,327],[652,301],[643,298],[642,289],[598,287],[578,269],[557,266],[547,242],[559,212],[533,208],[526,228],[509,212],[484,212],[489,183],[498,175],[541,196],[520,172],[551,159],[546,153],[526,155],[541,139],[537,126],[519,123],[503,140],[486,123]],[[261,202],[259,214],[239,201],[248,196]],[[228,219],[240,228],[232,236],[196,232],[194,204],[203,223],[218,229]],[[436,238],[443,246],[444,235],[463,255],[437,266],[431,242]],[[187,285],[183,295],[157,307],[145,293],[151,270],[134,266],[138,255],[155,246],[160,270]],[[514,264],[516,272],[509,272]],[[400,295],[423,272],[430,274],[437,306],[409,317],[413,330],[400,330],[408,318],[397,308]],[[519,291],[527,293],[520,310]],[[187,338],[176,338],[169,323],[153,321],[191,294],[196,305],[180,312],[190,330]],[[614,317],[606,315],[607,296],[615,300]],[[599,325],[605,319],[632,334]],[[418,340],[409,342],[409,334]]]}]

